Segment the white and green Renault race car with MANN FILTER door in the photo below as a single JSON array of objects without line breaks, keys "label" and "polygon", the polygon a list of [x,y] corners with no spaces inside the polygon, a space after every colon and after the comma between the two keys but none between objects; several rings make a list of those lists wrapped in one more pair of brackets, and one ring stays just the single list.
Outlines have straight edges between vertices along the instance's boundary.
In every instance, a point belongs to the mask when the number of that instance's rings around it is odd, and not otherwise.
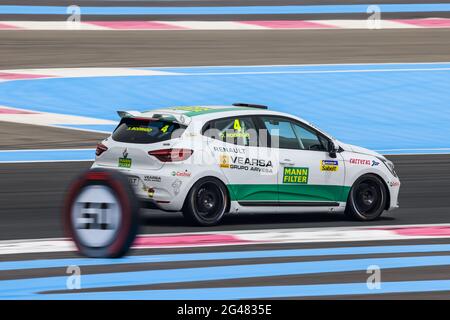
[{"label": "white and green Renault race car with MANN FILTER door", "polygon": [[394,165],[265,106],[118,111],[93,168],[120,170],[147,207],[209,226],[225,213],[344,212],[363,221],[398,207]]}]

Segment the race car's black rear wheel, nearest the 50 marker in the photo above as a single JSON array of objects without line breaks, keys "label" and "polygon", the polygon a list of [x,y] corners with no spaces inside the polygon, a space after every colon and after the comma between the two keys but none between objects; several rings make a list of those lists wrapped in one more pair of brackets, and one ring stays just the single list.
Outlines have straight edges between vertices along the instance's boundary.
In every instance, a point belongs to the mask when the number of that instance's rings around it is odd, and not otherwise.
[{"label": "race car's black rear wheel, nearest the 50 marker", "polygon": [[225,185],[213,177],[202,178],[189,191],[183,208],[184,217],[195,225],[217,225],[228,207]]}]

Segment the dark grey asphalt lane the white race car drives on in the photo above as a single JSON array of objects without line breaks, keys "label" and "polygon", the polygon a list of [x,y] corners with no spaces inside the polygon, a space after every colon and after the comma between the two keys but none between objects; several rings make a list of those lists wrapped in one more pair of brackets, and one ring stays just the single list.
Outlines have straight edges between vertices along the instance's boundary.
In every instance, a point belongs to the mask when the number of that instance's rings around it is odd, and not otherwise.
[{"label": "dark grey asphalt lane the white race car drives on", "polygon": [[[144,210],[142,233],[447,223],[450,219],[450,155],[390,156],[402,181],[400,209],[370,223],[342,214],[229,215],[219,226],[189,226],[181,213]],[[70,182],[90,162],[0,165],[0,239],[63,236],[60,208]],[[26,201],[24,201],[26,199]]]}]

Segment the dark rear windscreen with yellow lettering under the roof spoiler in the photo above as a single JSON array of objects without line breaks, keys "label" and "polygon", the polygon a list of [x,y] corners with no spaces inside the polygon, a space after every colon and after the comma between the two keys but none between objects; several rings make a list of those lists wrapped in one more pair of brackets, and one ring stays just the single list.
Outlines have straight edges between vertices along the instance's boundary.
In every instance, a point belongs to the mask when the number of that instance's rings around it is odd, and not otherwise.
[{"label": "dark rear windscreen with yellow lettering under the roof spoiler", "polygon": [[124,118],[112,138],[118,142],[155,143],[179,138],[185,129],[186,126],[172,121]]}]

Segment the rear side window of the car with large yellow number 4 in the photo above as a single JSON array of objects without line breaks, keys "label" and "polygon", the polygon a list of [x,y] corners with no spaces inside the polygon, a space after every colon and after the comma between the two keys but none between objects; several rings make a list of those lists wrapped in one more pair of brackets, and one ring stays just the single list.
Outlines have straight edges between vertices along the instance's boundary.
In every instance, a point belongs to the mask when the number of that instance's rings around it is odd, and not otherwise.
[{"label": "rear side window of the car with large yellow number 4", "polygon": [[250,117],[232,117],[212,121],[204,134],[210,138],[240,146],[257,146],[258,134]]}]

